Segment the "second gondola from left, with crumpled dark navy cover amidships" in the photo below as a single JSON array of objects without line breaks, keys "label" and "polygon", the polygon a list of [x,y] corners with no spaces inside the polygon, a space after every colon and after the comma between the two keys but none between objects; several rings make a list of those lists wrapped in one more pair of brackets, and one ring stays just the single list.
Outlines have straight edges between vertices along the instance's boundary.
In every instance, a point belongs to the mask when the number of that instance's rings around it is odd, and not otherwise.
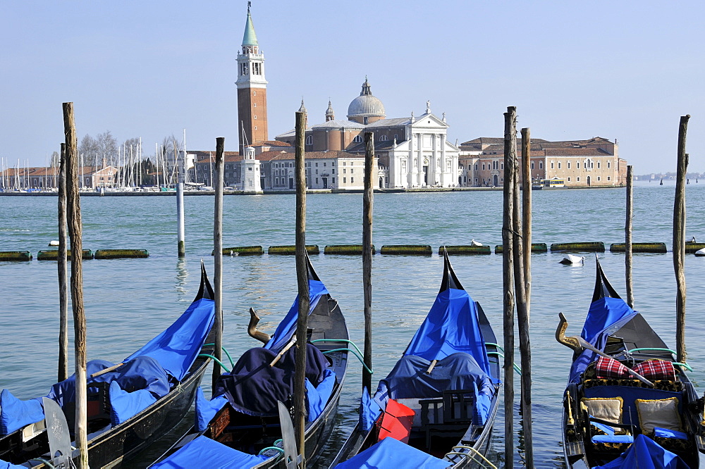
[{"label": "second gondola from left, with crumpled dark navy cover amidships", "polygon": [[[338,301],[308,259],[307,265],[310,306],[303,456],[312,465],[333,431],[350,342]],[[274,468],[286,465],[284,459],[295,464],[296,444],[293,432],[286,428],[293,412],[298,296],[271,337],[257,331],[259,318],[252,309],[250,314],[248,332],[264,346],[245,351],[233,370],[221,375],[210,401],[199,392],[195,425],[151,468]]]}]

